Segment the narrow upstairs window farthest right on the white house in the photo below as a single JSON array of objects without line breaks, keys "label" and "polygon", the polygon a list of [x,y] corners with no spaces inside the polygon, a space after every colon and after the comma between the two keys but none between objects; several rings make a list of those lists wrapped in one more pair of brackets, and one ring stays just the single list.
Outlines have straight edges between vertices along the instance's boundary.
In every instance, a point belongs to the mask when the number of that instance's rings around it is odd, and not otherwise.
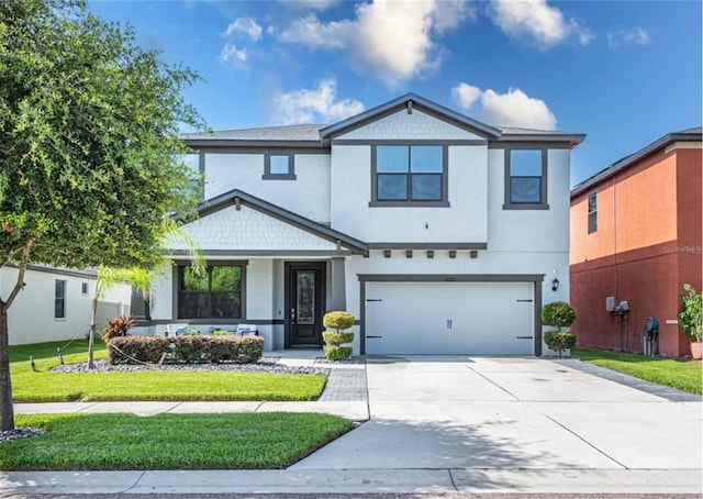
[{"label": "narrow upstairs window farthest right on the white house", "polygon": [[505,149],[505,210],[547,210],[547,152]]}]

